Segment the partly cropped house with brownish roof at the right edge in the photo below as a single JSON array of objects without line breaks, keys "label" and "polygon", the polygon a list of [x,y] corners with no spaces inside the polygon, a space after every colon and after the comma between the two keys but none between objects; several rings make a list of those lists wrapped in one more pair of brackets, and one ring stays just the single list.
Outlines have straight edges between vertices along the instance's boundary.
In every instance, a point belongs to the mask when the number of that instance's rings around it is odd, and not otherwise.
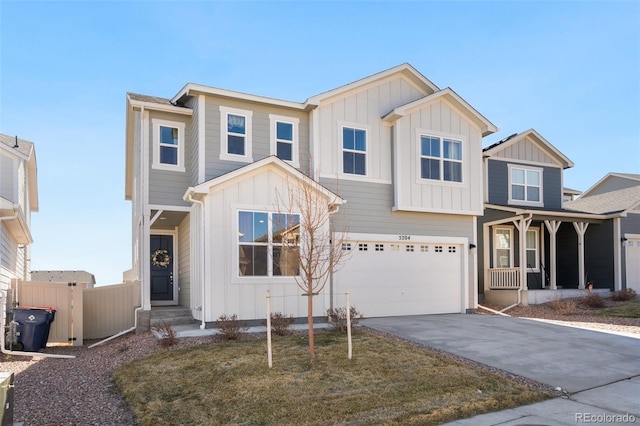
[{"label": "partly cropped house with brownish roof at the right edge", "polygon": [[[631,288],[640,293],[640,175],[609,173],[565,208],[613,216],[598,236],[610,244],[592,253],[594,271],[596,265],[611,264],[615,289]],[[593,243],[598,244],[596,240]]]}]

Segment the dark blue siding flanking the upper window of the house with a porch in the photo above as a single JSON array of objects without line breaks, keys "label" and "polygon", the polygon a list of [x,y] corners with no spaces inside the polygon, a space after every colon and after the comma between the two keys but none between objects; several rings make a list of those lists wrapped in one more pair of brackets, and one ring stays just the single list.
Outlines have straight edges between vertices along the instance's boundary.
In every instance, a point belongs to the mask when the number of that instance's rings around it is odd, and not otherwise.
[{"label": "dark blue siding flanking the upper window of the house with a porch", "polygon": [[[530,164],[518,164],[516,161],[508,162],[502,160],[488,161],[488,195],[490,204],[509,204],[509,164],[522,167],[531,167]],[[562,169],[552,166],[536,166],[542,168],[542,191],[544,208],[562,208]],[[514,204],[516,205],[516,204]]]}]

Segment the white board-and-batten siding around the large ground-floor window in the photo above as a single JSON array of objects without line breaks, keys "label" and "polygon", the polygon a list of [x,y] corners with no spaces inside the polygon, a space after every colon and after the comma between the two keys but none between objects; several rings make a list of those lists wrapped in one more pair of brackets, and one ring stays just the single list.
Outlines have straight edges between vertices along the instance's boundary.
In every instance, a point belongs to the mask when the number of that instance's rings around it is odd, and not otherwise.
[{"label": "white board-and-batten siding around the large ground-floor window", "polygon": [[[266,318],[267,290],[271,291],[272,312],[306,316],[307,299],[292,277],[238,277],[238,210],[277,212],[276,189],[286,194],[287,188],[286,176],[267,169],[213,188],[205,198],[206,240],[216,242],[208,244],[205,253],[207,322],[222,314],[237,314],[243,320]],[[314,297],[317,315],[324,315],[328,297]]]}]

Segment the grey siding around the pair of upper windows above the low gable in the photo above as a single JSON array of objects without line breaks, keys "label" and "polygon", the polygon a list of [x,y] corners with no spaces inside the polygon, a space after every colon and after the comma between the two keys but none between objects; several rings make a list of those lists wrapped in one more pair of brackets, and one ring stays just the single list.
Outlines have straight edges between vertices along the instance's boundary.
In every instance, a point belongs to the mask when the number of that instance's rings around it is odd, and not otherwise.
[{"label": "grey siding around the pair of upper windows above the low gable", "polygon": [[[234,108],[252,112],[251,133],[253,162],[271,155],[270,114],[297,118],[300,171],[309,173],[309,114],[304,111],[287,109],[275,105],[251,103],[214,96],[205,99],[205,180],[246,166],[247,163],[220,159],[221,114],[220,107]],[[226,125],[226,124],[224,124]]]}]

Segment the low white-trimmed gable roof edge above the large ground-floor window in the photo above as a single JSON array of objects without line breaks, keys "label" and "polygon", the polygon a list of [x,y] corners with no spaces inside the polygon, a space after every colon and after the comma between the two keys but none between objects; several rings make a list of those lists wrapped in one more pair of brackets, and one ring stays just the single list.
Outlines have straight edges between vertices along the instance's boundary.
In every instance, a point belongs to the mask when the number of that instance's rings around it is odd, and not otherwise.
[{"label": "low white-trimmed gable roof edge above the large ground-floor window", "polygon": [[311,179],[309,176],[305,175],[304,173],[302,173],[295,167],[291,166],[290,164],[282,161],[280,158],[276,157],[275,155],[271,155],[269,157],[263,158],[262,160],[258,160],[251,164],[247,164],[246,166],[240,167],[238,169],[235,169],[231,172],[225,173],[213,179],[209,179],[208,181],[203,182],[199,185],[196,185],[195,187],[189,187],[187,188],[187,191],[184,193],[184,196],[182,198],[185,201],[190,201],[189,198],[191,198],[193,195],[208,194],[210,189],[215,186],[221,185],[223,183],[229,182],[237,178],[241,178],[242,176],[248,175],[252,172],[256,172],[260,169],[264,169],[268,167],[275,167],[281,170],[282,172],[284,172],[285,174],[288,174],[294,177],[295,179],[298,179],[309,185],[312,185],[313,188],[315,188],[318,192],[320,192],[321,194],[329,198],[330,200],[329,204],[340,205],[340,204],[346,203],[346,200],[344,198],[340,197],[330,189],[327,189],[320,183]]}]

